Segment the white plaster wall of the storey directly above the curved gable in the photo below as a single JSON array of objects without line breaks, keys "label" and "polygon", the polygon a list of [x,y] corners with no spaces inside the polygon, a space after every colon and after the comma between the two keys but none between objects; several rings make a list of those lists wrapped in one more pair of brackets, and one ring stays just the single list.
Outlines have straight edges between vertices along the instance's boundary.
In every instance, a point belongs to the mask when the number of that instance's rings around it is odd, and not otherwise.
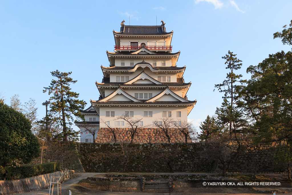
[{"label": "white plaster wall of the storey directly above the curved gable", "polygon": [[134,65],[136,63],[142,62],[143,60],[145,62],[150,63],[153,65],[153,61],[156,61],[156,66],[162,66],[162,61],[165,61],[165,66],[175,66],[175,64],[172,64],[172,60],[169,57],[159,58],[159,57],[152,57],[152,58],[146,58],[146,57],[137,57],[137,58],[115,58],[115,66],[121,66],[121,61],[125,61],[125,66],[130,66],[131,60],[134,61]]}]

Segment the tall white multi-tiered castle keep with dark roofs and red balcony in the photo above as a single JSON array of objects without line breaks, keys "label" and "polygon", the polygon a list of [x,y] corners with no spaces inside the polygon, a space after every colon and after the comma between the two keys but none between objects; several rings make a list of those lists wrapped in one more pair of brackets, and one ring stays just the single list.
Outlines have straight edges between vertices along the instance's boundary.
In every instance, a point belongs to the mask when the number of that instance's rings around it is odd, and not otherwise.
[{"label": "tall white multi-tiered castle keep with dark roofs and red balcony", "polygon": [[[128,140],[130,124],[123,118],[136,121],[135,141],[165,141],[157,124],[171,118],[171,140],[182,137],[175,126],[187,121],[187,115],[196,104],[187,99],[191,82],[185,82],[186,67],[177,67],[180,51],[173,53],[173,31],[160,26],[127,26],[121,23],[114,34],[114,52],[107,51],[109,67],[101,66],[102,82],[96,82],[100,97],[91,100],[83,111],[87,125],[98,129],[97,141]],[[85,127],[81,122],[76,125]],[[81,134],[81,139],[93,138]]]}]

